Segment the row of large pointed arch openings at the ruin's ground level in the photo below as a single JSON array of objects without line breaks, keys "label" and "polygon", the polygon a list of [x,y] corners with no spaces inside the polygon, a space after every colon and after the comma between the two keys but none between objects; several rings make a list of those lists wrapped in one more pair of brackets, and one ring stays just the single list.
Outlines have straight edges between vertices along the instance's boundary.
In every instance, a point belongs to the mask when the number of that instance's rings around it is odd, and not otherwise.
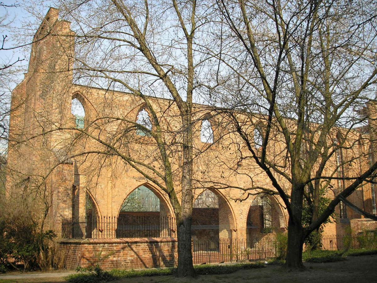
[{"label": "row of large pointed arch openings at the ruin's ground level", "polygon": [[[85,198],[86,218],[93,220],[100,217],[94,198],[89,193],[86,193]],[[172,218],[172,209],[158,190],[148,184],[138,186],[121,205],[116,219],[116,237],[173,236],[175,225],[170,221]],[[246,235],[243,234],[242,237],[247,239],[270,233],[273,228],[279,229],[285,226],[281,211],[279,213],[279,205],[267,195],[254,198],[248,208],[246,219]],[[205,189],[193,203],[192,239],[210,242],[232,239],[237,231],[235,220],[233,209],[227,199],[214,189]],[[95,221],[91,223],[91,226],[84,228],[87,237],[98,228]],[[146,227],[147,231],[143,231]]]}]

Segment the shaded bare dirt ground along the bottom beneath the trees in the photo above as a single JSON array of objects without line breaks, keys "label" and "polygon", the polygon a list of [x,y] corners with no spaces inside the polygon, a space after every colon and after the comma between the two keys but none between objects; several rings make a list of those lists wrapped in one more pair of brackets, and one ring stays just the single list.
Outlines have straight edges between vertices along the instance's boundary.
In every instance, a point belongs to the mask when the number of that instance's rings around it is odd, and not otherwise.
[{"label": "shaded bare dirt ground along the bottom beneath the trees", "polygon": [[[113,281],[114,283],[192,283],[192,282],[258,282],[258,283],[369,283],[377,282],[377,255],[365,255],[361,257],[347,257],[345,261],[334,263],[305,263],[305,271],[287,272],[281,266],[267,266],[266,268],[241,270],[224,275],[201,275],[196,279],[177,279],[173,276],[124,278]],[[25,274],[26,275],[26,274]],[[64,282],[61,277],[44,278],[19,278],[2,280],[0,282]],[[5,279],[5,278],[4,278]]]}]

